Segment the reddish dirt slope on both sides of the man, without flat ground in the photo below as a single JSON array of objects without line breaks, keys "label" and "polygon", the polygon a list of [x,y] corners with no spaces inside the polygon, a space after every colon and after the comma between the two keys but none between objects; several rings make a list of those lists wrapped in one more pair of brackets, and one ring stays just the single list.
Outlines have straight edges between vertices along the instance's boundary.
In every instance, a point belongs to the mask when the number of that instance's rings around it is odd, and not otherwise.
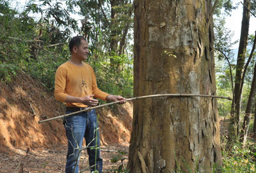
[{"label": "reddish dirt slope on both sides of the man, without flat ground", "polygon": [[[51,147],[67,144],[62,119],[38,124],[38,121],[65,113],[40,82],[22,72],[10,84],[0,83],[0,149],[13,147]],[[128,144],[132,105],[97,110],[102,144]]]}]

